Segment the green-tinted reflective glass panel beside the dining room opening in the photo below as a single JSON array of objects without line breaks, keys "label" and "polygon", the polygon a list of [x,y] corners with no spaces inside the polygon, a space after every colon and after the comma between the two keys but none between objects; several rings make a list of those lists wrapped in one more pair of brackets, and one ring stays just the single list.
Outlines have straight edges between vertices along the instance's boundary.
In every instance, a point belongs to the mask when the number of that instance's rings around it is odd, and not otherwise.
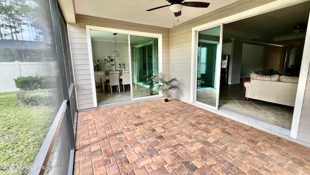
[{"label": "green-tinted reflective glass panel beside the dining room opening", "polygon": [[158,39],[130,35],[133,98],[158,95],[151,77],[158,76]]}]

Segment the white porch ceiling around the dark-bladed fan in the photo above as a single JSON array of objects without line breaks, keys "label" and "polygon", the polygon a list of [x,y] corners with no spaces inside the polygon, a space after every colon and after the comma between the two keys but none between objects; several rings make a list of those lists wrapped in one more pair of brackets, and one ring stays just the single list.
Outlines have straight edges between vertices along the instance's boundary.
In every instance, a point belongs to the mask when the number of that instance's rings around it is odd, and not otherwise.
[{"label": "white porch ceiling around the dark-bladed fan", "polygon": [[186,7],[175,17],[169,7],[146,10],[170,4],[167,0],[74,0],[76,14],[96,16],[138,24],[171,28],[190,19],[202,16],[238,0],[185,0],[209,2],[208,8]]}]

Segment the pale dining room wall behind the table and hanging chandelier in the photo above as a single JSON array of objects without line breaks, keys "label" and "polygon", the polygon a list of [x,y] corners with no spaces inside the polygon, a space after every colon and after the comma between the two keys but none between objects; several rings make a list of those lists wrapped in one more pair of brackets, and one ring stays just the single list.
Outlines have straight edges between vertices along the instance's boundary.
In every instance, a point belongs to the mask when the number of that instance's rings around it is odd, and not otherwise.
[{"label": "pale dining room wall behind the table and hanging chandelier", "polygon": [[[99,71],[105,71],[104,56],[111,56],[111,51],[114,50],[114,42],[92,41],[93,60],[101,60],[99,64]],[[123,51],[123,59],[115,60],[116,70],[119,69],[118,65],[121,64],[123,70],[123,63],[125,70],[129,70],[129,55],[128,43],[117,43],[117,50]]]}]

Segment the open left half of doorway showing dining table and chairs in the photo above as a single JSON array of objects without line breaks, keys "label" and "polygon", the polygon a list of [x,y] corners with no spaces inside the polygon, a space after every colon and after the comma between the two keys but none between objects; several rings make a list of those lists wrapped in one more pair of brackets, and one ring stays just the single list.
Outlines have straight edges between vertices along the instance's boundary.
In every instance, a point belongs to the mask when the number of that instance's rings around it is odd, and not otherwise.
[{"label": "open left half of doorway showing dining table and chairs", "polygon": [[[96,30],[90,31],[96,101],[98,105],[131,100],[130,84],[125,85],[124,89],[122,84],[120,84],[123,81],[123,72],[129,71],[128,34],[117,33],[115,41],[114,33]],[[111,51],[115,49],[122,51],[122,59],[113,59],[111,57]],[[110,72],[119,73],[119,87],[109,86]]]}]

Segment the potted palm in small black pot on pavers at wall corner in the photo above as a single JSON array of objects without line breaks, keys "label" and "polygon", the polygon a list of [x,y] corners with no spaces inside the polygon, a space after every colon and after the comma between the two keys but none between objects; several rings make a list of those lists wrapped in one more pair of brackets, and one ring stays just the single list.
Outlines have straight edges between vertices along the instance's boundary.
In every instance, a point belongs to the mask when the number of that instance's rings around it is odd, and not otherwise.
[{"label": "potted palm in small black pot on pavers at wall corner", "polygon": [[168,102],[168,91],[172,89],[179,89],[176,84],[173,84],[175,81],[178,81],[176,78],[171,80],[166,80],[166,75],[163,73],[159,73],[158,77],[152,77],[152,80],[155,81],[155,86],[164,94],[165,102]]}]

